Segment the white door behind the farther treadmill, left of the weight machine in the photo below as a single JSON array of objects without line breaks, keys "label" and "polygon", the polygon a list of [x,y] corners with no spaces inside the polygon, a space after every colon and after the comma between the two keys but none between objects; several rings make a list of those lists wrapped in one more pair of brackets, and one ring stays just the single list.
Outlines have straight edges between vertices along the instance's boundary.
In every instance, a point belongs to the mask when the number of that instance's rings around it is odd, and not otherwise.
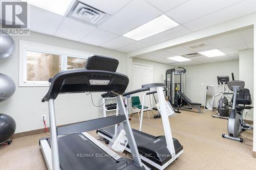
[{"label": "white door behind the farther treadmill, left of the weight machine", "polygon": [[[133,64],[133,76],[132,76],[132,90],[140,89],[143,84],[153,83],[153,67],[150,65]],[[146,91],[145,91],[146,92]],[[145,92],[133,94],[132,96],[139,96],[140,103],[142,104],[142,97]],[[151,96],[151,102],[152,102]],[[144,106],[150,109],[150,96],[145,96]],[[133,113],[138,112],[138,109],[133,109]]]}]

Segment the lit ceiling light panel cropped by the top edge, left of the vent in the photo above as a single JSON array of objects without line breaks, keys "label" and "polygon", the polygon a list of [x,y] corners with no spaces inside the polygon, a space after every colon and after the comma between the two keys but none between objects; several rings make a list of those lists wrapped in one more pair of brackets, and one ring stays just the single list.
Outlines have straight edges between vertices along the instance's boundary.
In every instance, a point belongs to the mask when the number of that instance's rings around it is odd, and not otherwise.
[{"label": "lit ceiling light panel cropped by the top edge, left of the vent", "polygon": [[28,4],[64,16],[73,0],[22,0]]}]

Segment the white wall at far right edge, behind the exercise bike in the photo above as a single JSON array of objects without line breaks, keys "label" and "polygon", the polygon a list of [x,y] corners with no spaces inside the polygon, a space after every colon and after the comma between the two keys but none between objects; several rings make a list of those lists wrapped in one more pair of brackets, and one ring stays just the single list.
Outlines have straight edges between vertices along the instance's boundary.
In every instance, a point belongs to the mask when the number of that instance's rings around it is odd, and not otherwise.
[{"label": "white wall at far right edge, behind the exercise bike", "polygon": [[[253,106],[253,48],[242,50],[239,52],[239,80],[245,82],[245,88],[248,88],[251,93]],[[246,119],[253,120],[253,109],[245,110],[248,112]],[[243,114],[244,118],[246,114]]]}]

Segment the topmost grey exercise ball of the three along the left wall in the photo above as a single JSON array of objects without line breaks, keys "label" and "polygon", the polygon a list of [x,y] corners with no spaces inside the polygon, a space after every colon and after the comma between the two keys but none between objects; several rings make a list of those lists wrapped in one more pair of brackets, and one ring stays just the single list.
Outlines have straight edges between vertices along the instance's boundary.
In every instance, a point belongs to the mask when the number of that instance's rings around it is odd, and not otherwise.
[{"label": "topmost grey exercise ball of the three along the left wall", "polygon": [[0,59],[10,57],[15,50],[15,43],[11,36],[0,34]]}]

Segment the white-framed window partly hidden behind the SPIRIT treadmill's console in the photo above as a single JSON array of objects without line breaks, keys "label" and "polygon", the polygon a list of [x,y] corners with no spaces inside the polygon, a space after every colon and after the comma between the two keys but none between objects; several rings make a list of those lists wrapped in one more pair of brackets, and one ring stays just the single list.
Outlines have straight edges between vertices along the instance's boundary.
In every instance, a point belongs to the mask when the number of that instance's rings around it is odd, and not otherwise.
[{"label": "white-framed window partly hidden behind the SPIRIT treadmill's console", "polygon": [[91,53],[28,41],[19,42],[19,86],[49,86],[61,70],[84,68]]}]

